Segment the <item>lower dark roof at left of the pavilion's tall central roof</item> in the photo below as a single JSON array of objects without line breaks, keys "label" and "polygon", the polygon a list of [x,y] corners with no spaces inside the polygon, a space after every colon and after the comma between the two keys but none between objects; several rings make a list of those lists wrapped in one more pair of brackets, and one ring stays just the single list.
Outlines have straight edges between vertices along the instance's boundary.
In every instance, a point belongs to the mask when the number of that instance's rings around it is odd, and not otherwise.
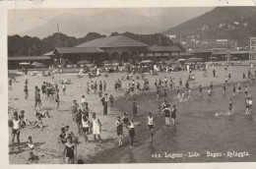
[{"label": "lower dark roof at left of the pavilion's tall central roof", "polygon": [[97,47],[58,47],[53,53],[103,53],[102,49]]}]

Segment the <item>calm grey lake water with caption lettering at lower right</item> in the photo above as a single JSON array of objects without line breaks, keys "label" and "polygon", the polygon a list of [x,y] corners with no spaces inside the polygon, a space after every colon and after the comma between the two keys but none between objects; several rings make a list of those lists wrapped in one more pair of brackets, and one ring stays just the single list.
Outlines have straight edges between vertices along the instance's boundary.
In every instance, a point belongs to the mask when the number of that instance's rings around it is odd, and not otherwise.
[{"label": "calm grey lake water with caption lettering at lower right", "polygon": [[[244,84],[242,84],[244,86]],[[236,86],[237,88],[237,86]],[[256,98],[256,86],[248,86],[249,93]],[[156,95],[137,97],[139,117],[136,121],[135,147],[113,148],[93,157],[93,163],[168,163],[168,162],[230,162],[255,161],[256,117],[245,115],[245,94],[232,96],[232,85],[227,85],[226,94],[222,86],[214,86],[212,98],[203,90],[203,96],[195,88],[192,100],[178,102],[175,95],[169,96],[170,104],[176,104],[175,127],[165,127],[164,118],[159,118]],[[227,115],[229,98],[233,98],[234,114]],[[132,102],[118,101],[120,110],[132,112]],[[151,111],[157,119],[154,142],[150,142],[147,130],[147,113]],[[220,113],[216,116],[216,113]],[[124,129],[125,130],[125,129]],[[128,140],[127,140],[128,141]],[[238,153],[239,152],[239,153]],[[212,157],[212,156],[216,157]]]}]

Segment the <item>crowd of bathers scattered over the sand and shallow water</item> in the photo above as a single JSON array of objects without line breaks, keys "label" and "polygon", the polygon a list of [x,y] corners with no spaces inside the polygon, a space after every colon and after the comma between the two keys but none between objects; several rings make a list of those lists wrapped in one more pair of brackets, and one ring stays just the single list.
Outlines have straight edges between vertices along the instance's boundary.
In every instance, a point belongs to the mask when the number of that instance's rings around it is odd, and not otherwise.
[{"label": "crowd of bathers scattered over the sand and shallow water", "polygon": [[[246,79],[245,73],[242,73],[243,79]],[[256,77],[255,75],[248,71],[247,78],[252,79],[252,77]],[[217,71],[213,70],[213,78],[219,78]],[[226,94],[226,89],[229,87],[228,82],[231,80],[232,76],[231,73],[228,72],[224,78],[224,94]],[[140,82],[136,82],[140,79],[140,76],[134,76],[126,78],[122,78],[121,80],[117,80],[114,83],[114,91],[119,92],[122,91],[122,81],[129,81],[127,91],[125,93],[126,100],[130,99],[131,95],[135,94],[137,90],[138,95],[140,96],[143,92],[149,92],[150,90],[150,82],[148,79],[141,74],[141,79],[143,80],[143,84]],[[53,82],[54,77],[52,78],[52,82],[43,82],[40,86],[34,86],[34,115],[36,117],[35,122],[30,122],[28,119],[25,118],[25,111],[22,110],[20,114],[18,112],[14,112],[13,118],[9,121],[9,126],[12,128],[12,147],[14,147],[15,138],[17,138],[18,146],[20,144],[20,131],[22,128],[26,126],[32,126],[32,128],[38,128],[41,131],[43,130],[43,118],[50,118],[50,114],[48,110],[41,111],[42,109],[42,100],[48,100],[50,103],[55,104],[55,110],[58,111],[60,106],[60,95],[59,90],[61,89],[63,92],[63,97],[66,95],[66,84],[59,84]],[[175,84],[177,81],[177,84]],[[159,78],[155,80],[155,87],[157,92],[157,100],[160,102],[162,100],[162,104],[159,105],[159,118],[164,117],[164,122],[166,127],[175,126],[176,122],[175,119],[177,118],[177,109],[175,104],[170,104],[168,101],[169,98],[175,98],[178,102],[186,102],[192,101],[192,92],[197,90],[197,88],[191,88],[190,84],[195,83],[196,77],[192,73],[192,69],[188,70],[188,78],[183,84],[182,79],[175,80],[173,77],[164,77],[163,80]],[[82,87],[80,84],[77,84],[78,87]],[[143,86],[143,87],[142,87]],[[245,95],[245,114],[251,114],[253,108],[253,99],[248,91],[247,85],[244,87],[238,83],[237,85],[232,84],[232,96],[228,102],[228,115],[233,114],[233,105],[234,105],[234,97],[236,92],[244,93]],[[176,91],[176,95],[171,95],[172,91]],[[214,91],[214,84],[211,82],[209,86],[207,86],[206,95],[209,96],[210,99],[213,99],[213,92]],[[25,99],[29,97],[29,80],[26,80],[24,85],[24,92],[25,92]],[[85,93],[88,95],[97,95],[99,97],[100,102],[102,103],[102,114],[108,114],[108,102],[110,104],[110,111],[114,110],[114,97],[112,94],[107,93],[107,84],[105,81],[99,82],[88,82],[85,85]],[[204,88],[201,84],[199,84],[199,93],[204,95]],[[123,129],[127,129],[129,134],[129,142],[130,148],[134,147],[134,138],[135,138],[135,128],[138,125],[141,125],[141,122],[136,122],[137,114],[138,114],[138,103],[136,99],[133,100],[132,103],[132,114],[129,115],[128,112],[123,113],[123,116],[117,116],[114,126],[116,128],[118,146],[123,145],[123,138],[124,138],[124,131]],[[96,116],[96,112],[93,112],[89,108],[89,103],[86,100],[86,96],[82,95],[81,102],[78,103],[76,99],[73,100],[71,105],[71,119],[73,124],[76,125],[77,132],[79,137],[76,137],[73,132],[70,132],[70,127],[62,127],[60,129],[60,135],[58,136],[58,142],[61,145],[64,157],[66,158],[66,162],[69,164],[75,163],[75,159],[77,157],[77,143],[80,137],[83,137],[85,142],[89,141],[98,141],[102,142],[100,137],[100,133],[102,131],[102,124],[99,118]],[[160,119],[161,121],[161,119]],[[163,120],[162,120],[163,121]],[[148,111],[147,116],[147,127],[149,130],[149,135],[151,141],[154,141],[154,132],[156,127],[156,117],[155,113],[152,111]],[[90,134],[93,134],[93,139],[90,138]],[[30,148],[30,160],[35,159],[35,155],[33,153],[34,145],[32,143],[32,137],[29,136],[28,146]]]}]

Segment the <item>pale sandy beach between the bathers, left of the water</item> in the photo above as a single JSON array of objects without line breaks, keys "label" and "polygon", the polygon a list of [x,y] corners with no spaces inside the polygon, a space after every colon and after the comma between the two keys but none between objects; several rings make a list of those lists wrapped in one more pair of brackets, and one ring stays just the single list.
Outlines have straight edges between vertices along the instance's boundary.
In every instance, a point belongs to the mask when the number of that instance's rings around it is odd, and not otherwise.
[{"label": "pale sandy beach between the bathers, left of the water", "polygon": [[[218,72],[219,78],[213,78],[213,69],[216,69]],[[228,83],[242,82],[242,73],[247,75],[249,67],[248,66],[237,66],[237,67],[229,67],[227,70],[224,70],[224,67],[210,67],[207,72],[202,71],[194,71],[192,74],[195,75],[196,81],[193,84],[190,84],[190,87],[195,87],[198,89],[199,84],[202,86],[209,86],[211,82],[214,85],[223,84],[224,77],[227,76],[228,72],[231,73],[231,80]],[[31,77],[31,76],[21,76],[17,77],[16,80],[18,83],[13,83],[13,89],[9,90],[9,119],[11,119],[14,110],[21,111],[25,110],[25,117],[29,119],[29,121],[35,121],[35,116],[33,113],[33,90],[34,86],[40,85],[42,82],[54,83],[58,82],[62,79],[70,79],[72,84],[67,84],[66,95],[64,96],[62,91],[60,90],[60,108],[58,111],[54,110],[54,103],[50,103],[48,100],[42,99],[42,110],[49,110],[50,118],[43,119],[43,124],[46,126],[43,131],[39,129],[31,129],[27,127],[22,129],[21,131],[21,144],[20,149],[15,148],[15,150],[11,150],[9,152],[9,162],[11,164],[26,164],[31,163],[28,161],[29,151],[27,146],[28,137],[32,136],[32,141],[35,144],[34,154],[38,155],[39,160],[35,161],[35,163],[44,163],[44,164],[61,164],[65,163],[63,158],[63,148],[58,144],[57,138],[60,134],[60,128],[65,127],[66,125],[70,126],[70,131],[74,132],[75,136],[79,137],[78,144],[78,158],[88,159],[100,152],[104,149],[109,149],[117,146],[117,136],[114,127],[114,122],[118,115],[122,115],[122,110],[115,109],[114,111],[110,111],[108,105],[108,115],[104,116],[102,113],[102,104],[100,102],[100,98],[98,94],[96,95],[88,95],[86,94],[87,82],[98,82],[105,81],[106,92],[109,94],[113,94],[114,99],[117,100],[119,97],[124,96],[124,92],[127,90],[128,84],[131,81],[122,81],[123,90],[120,92],[114,91],[114,82],[117,79],[124,77],[126,78],[125,73],[119,74],[109,74],[108,78],[103,76],[96,77],[94,79],[89,79],[88,76],[85,76],[81,79],[77,78],[77,75],[62,75],[56,74],[54,80],[51,80],[51,77]],[[146,74],[147,79],[150,81],[151,90],[155,90],[154,83],[156,79],[163,80],[164,77],[169,81],[169,77],[174,78],[175,86],[178,85],[179,78],[183,81],[183,86],[185,84],[185,80],[188,77],[188,73],[185,71],[182,72],[172,72],[172,73],[160,73],[158,76],[151,76]],[[29,91],[30,96],[29,99],[26,100],[24,98],[24,83],[25,80],[29,80]],[[142,80],[136,80],[136,83],[139,82],[142,84]],[[78,87],[78,84],[81,87]],[[59,84],[59,86],[61,86]],[[93,141],[93,135],[89,136],[89,143],[84,141],[83,137],[78,135],[78,130],[76,125],[72,122],[72,117],[70,113],[70,107],[72,105],[72,100],[77,99],[78,103],[81,105],[81,97],[82,95],[86,96],[86,100],[89,102],[89,107],[91,111],[96,112],[96,116],[99,118],[102,124],[101,131],[101,139],[102,142]],[[132,101],[122,101],[126,102],[127,106],[130,105],[130,114],[132,112]],[[90,118],[92,116],[90,115]],[[126,130],[125,135],[127,135]],[[11,129],[9,128],[9,134],[11,134]],[[147,136],[148,137],[148,136]],[[9,135],[9,141],[11,142],[11,135]],[[107,158],[107,156],[106,156]],[[34,162],[33,162],[34,163]],[[87,161],[85,161],[87,163]],[[90,161],[90,163],[94,163],[94,161]]]}]

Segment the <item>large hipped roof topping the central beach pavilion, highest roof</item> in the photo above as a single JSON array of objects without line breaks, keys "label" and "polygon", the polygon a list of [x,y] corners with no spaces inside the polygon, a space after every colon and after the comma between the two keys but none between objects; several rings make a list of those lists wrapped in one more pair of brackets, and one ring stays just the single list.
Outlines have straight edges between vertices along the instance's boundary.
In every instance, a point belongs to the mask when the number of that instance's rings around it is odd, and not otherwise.
[{"label": "large hipped roof topping the central beach pavilion, highest roof", "polygon": [[147,47],[148,44],[131,39],[124,35],[96,38],[76,47]]}]

